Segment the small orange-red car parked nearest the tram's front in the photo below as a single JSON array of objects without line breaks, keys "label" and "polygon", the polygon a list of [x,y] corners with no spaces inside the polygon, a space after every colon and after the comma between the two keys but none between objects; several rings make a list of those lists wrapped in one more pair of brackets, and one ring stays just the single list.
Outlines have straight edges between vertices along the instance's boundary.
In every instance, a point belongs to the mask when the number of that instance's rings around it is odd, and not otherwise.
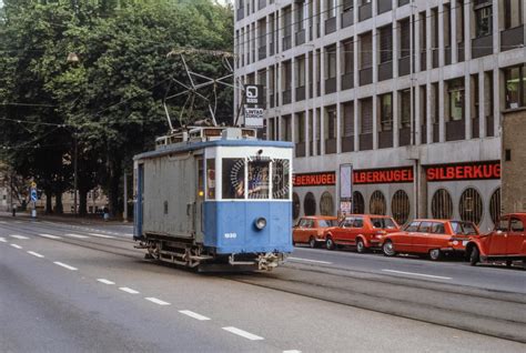
[{"label": "small orange-red car parked nearest the tram's front", "polygon": [[303,216],[292,230],[292,243],[307,243],[311,248],[317,248],[325,242],[326,229],[335,225],[335,216]]}]

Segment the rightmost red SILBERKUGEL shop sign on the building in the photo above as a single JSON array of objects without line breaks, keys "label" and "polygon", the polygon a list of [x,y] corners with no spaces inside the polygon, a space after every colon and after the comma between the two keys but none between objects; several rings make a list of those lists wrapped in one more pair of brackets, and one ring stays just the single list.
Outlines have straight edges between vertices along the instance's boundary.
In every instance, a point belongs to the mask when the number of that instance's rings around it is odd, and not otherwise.
[{"label": "rightmost red SILBERKUGEL shop sign on the building", "polygon": [[474,162],[426,167],[427,181],[500,179],[500,162]]}]

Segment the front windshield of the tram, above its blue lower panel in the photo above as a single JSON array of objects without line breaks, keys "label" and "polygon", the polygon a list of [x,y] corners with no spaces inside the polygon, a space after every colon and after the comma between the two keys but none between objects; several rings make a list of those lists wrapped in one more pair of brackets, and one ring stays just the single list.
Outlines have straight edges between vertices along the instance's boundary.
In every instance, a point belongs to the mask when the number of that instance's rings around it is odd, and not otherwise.
[{"label": "front windshield of the tram, above its blue lower panel", "polygon": [[287,200],[291,193],[289,165],[285,159],[224,158],[222,199]]}]

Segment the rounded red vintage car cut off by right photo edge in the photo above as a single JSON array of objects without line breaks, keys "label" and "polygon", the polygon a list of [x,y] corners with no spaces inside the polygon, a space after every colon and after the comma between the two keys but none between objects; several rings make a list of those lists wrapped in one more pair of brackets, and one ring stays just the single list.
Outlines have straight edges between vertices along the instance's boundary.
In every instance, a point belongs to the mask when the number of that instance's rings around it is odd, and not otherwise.
[{"label": "rounded red vintage car cut off by right photo edge", "polygon": [[466,258],[472,265],[478,262],[526,261],[526,213],[505,214],[488,234],[472,236],[466,245]]}]

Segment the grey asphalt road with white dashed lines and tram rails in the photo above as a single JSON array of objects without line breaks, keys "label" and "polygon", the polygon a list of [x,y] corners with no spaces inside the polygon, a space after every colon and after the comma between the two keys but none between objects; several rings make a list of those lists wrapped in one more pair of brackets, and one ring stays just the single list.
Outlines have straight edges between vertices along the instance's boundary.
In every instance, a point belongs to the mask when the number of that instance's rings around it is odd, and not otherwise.
[{"label": "grey asphalt road with white dashed lines and tram rails", "polygon": [[0,352],[526,350],[526,271],[296,249],[272,273],[203,275],[130,234],[0,218]]}]

